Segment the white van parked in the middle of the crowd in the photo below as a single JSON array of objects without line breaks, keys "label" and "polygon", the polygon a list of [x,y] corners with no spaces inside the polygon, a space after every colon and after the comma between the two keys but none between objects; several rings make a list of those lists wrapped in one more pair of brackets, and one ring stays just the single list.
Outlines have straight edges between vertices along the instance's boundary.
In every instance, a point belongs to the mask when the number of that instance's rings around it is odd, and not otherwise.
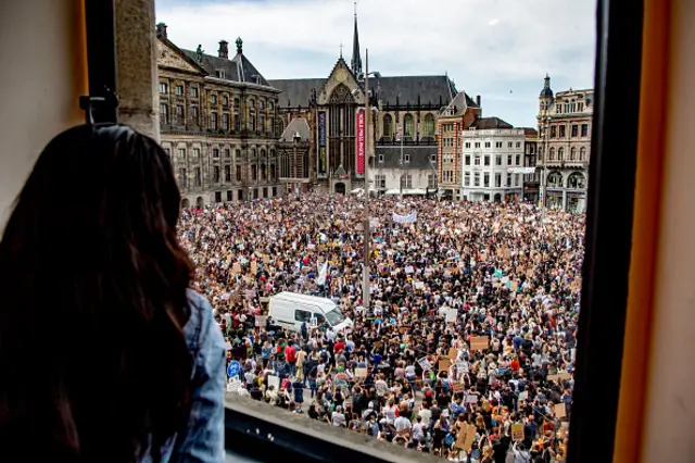
[{"label": "white van parked in the middle of the crowd", "polygon": [[301,331],[304,321],[315,320],[317,326],[328,323],[334,331],[350,330],[352,321],[327,298],[283,291],[270,297],[268,315],[274,324],[292,331]]}]

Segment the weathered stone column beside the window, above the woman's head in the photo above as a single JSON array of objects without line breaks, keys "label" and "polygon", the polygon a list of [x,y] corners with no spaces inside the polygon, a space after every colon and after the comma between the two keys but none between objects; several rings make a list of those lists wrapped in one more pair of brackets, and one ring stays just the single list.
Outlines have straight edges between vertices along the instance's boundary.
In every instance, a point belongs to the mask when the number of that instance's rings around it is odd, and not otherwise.
[{"label": "weathered stone column beside the window, above the woman's head", "polygon": [[116,0],[118,122],[160,140],[154,0]]}]

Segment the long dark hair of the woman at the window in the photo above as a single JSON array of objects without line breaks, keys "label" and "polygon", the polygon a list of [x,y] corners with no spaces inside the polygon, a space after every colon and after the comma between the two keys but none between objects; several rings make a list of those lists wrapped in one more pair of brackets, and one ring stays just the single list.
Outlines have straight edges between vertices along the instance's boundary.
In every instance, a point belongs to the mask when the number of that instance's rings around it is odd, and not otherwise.
[{"label": "long dark hair of the woman at the window", "polygon": [[156,461],[185,427],[179,203],[168,157],[131,128],[78,126],[46,147],[0,242],[0,454]]}]

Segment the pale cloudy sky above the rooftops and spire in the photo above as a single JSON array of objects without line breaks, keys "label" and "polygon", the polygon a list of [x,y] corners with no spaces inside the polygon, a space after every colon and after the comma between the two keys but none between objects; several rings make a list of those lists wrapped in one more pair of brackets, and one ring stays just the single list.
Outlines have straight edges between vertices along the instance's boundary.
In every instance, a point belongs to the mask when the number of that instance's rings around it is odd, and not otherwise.
[{"label": "pale cloudy sky above the rooftops and spire", "polygon": [[[353,0],[156,0],[180,48],[216,54],[222,39],[266,79],[328,77],[352,55]],[[536,125],[548,73],[554,91],[594,85],[595,0],[358,0],[363,65],[383,76],[443,75],[483,116]]]}]

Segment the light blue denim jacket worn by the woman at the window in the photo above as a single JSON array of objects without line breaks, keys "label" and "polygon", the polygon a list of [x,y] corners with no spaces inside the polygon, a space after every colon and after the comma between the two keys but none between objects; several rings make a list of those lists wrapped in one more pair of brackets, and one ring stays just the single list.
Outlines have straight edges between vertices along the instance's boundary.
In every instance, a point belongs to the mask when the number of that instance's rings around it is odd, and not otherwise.
[{"label": "light blue denim jacket worn by the woman at the window", "polygon": [[[192,391],[188,426],[162,448],[162,463],[222,463],[225,459],[225,356],[226,348],[210,302],[189,291],[191,317],[184,327],[193,355]],[[151,463],[148,453],[141,463]]]}]

